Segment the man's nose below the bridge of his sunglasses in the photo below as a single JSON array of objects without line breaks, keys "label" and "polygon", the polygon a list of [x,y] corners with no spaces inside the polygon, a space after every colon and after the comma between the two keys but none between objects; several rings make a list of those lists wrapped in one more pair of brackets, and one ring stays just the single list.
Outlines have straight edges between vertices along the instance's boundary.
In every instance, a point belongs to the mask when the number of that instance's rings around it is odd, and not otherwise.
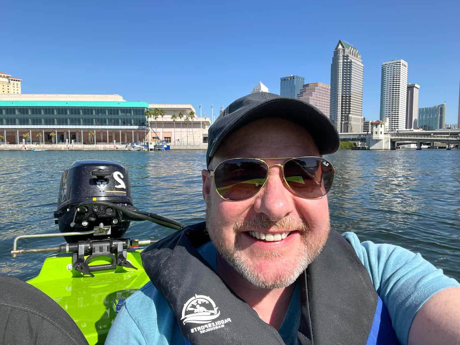
[{"label": "man's nose below the bridge of his sunglasses", "polygon": [[270,167],[268,180],[256,196],[253,207],[256,213],[264,213],[272,222],[283,219],[293,211],[292,194],[284,185],[280,166]]}]

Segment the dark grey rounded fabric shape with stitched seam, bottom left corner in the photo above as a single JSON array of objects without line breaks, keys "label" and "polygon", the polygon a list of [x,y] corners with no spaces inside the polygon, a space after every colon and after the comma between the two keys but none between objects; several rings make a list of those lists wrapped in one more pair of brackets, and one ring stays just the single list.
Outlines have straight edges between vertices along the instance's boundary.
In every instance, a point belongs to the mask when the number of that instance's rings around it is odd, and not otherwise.
[{"label": "dark grey rounded fabric shape with stitched seam, bottom left corner", "polygon": [[87,345],[53,299],[17,278],[0,275],[0,345]]}]

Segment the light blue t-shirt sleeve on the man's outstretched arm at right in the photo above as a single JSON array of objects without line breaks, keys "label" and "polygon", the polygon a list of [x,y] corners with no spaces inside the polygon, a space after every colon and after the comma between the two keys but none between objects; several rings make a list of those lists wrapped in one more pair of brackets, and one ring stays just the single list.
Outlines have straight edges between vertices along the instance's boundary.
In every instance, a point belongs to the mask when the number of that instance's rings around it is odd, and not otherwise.
[{"label": "light blue t-shirt sleeve on the man's outstretched arm at right", "polygon": [[366,267],[375,291],[385,302],[399,342],[408,343],[414,317],[435,293],[460,284],[422,258],[391,244],[360,242],[356,234],[345,232],[345,239]]}]

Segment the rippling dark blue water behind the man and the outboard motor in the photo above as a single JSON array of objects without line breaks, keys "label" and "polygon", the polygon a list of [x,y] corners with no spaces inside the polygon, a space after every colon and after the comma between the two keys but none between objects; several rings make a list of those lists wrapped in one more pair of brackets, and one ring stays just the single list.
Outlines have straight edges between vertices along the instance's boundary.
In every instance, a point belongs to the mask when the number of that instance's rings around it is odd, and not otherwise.
[{"label": "rippling dark blue water behind the man and the outboard motor", "polygon": [[[18,235],[58,232],[54,225],[62,171],[78,159],[122,163],[130,174],[134,205],[186,224],[203,221],[201,169],[205,151],[0,151],[0,274],[27,280],[46,254],[12,259]],[[329,155],[338,170],[329,193],[332,228],[354,231],[361,241],[420,252],[460,280],[460,150],[340,150]],[[130,238],[159,239],[173,232],[132,222]],[[62,238],[22,240],[48,247]]]}]

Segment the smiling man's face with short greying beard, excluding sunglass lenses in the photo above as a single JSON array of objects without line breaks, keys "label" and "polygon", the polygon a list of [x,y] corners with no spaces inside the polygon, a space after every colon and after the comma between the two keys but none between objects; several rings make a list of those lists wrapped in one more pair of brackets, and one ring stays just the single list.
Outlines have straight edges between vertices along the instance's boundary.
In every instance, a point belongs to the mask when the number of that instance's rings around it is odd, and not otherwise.
[{"label": "smiling man's face with short greying beard, excluding sunglass lenses", "polygon": [[[302,156],[319,156],[304,128],[283,119],[262,119],[225,138],[210,170],[230,158]],[[265,161],[270,166],[283,164],[286,159]],[[327,197],[309,200],[294,194],[285,185],[282,168],[272,166],[268,181],[255,196],[226,201],[217,194],[209,172],[203,170],[202,174],[207,230],[223,258],[259,288],[284,288],[295,282],[328,238]],[[288,236],[266,241],[253,237],[254,232]]]}]

